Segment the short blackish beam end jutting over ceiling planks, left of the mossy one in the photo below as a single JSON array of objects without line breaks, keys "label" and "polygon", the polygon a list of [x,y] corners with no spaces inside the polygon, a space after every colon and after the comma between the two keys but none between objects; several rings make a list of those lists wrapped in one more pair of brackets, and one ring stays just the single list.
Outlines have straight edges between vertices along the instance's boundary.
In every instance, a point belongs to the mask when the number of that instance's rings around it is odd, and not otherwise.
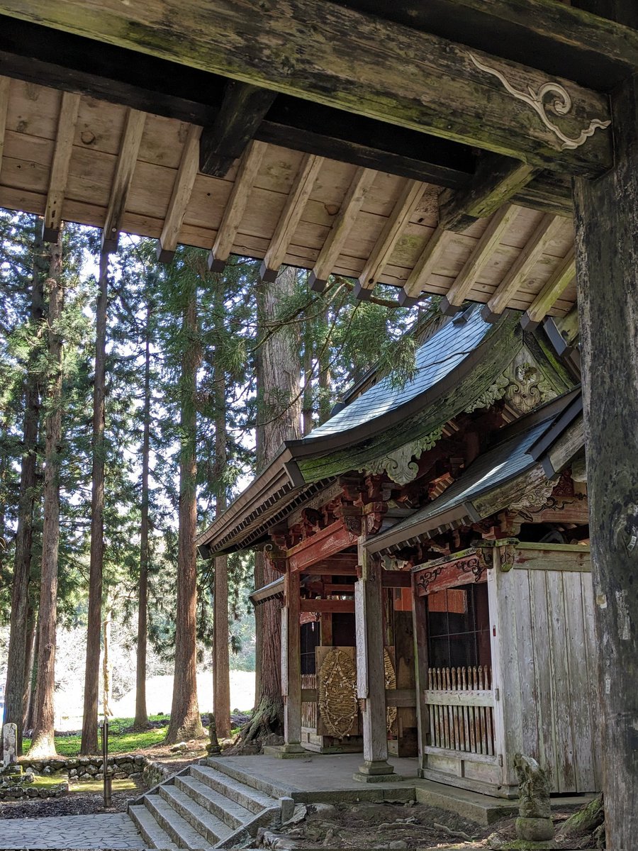
[{"label": "short blackish beam end jutting over ceiling planks, left of the mossy one", "polygon": [[203,174],[225,177],[242,156],[259,124],[271,108],[276,92],[229,80],[212,127],[202,133],[199,167]]}]

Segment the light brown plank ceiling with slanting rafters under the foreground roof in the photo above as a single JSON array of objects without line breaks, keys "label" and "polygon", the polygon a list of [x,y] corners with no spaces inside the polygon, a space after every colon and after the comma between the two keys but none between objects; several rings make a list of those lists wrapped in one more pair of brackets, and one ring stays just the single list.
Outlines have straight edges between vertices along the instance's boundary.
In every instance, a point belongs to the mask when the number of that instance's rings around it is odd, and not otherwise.
[{"label": "light brown plank ceiling with slanting rafters under the foreground roof", "polygon": [[[391,132],[391,130],[390,130]],[[461,233],[437,228],[441,187],[253,141],[224,178],[198,172],[200,129],[86,95],[0,77],[0,206],[330,273],[421,294],[561,316],[576,293],[572,220],[502,208]]]}]

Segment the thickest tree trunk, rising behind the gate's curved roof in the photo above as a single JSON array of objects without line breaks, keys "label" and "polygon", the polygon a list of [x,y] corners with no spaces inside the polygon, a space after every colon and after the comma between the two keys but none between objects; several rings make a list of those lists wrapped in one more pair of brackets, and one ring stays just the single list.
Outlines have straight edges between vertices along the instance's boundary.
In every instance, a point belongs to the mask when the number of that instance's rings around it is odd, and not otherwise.
[{"label": "thickest tree trunk, rising behind the gate's curved roof", "polygon": [[[278,328],[276,322],[280,299],[293,294],[294,269],[285,266],[274,283],[260,283],[258,311],[260,337],[268,331],[257,355],[257,465],[262,470],[275,456],[286,439],[300,436],[301,403],[299,400],[299,340],[294,326]],[[255,588],[276,580],[279,574],[255,553]],[[282,701],[282,624],[281,603],[271,600],[255,610],[256,703],[253,720],[242,735],[248,742],[269,733],[281,733]]]}]

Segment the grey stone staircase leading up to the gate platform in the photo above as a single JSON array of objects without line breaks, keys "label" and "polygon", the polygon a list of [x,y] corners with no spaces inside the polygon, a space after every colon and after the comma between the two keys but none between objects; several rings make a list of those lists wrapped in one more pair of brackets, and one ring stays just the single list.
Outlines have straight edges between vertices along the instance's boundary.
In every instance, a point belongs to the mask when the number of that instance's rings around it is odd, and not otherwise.
[{"label": "grey stone staircase leading up to the gate platform", "polygon": [[202,760],[128,805],[148,848],[241,847],[259,827],[292,815],[290,797],[277,799],[224,768],[223,760]]}]

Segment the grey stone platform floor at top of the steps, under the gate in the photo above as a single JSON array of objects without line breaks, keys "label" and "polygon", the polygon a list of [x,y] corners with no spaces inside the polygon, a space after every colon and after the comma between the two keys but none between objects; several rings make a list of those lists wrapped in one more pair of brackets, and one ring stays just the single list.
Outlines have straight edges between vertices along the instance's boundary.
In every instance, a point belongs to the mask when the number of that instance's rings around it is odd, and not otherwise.
[{"label": "grey stone platform floor at top of the steps, under the gate", "polygon": [[[504,816],[516,815],[518,811],[517,801],[419,779],[416,758],[389,758],[388,762],[403,780],[370,785],[358,783],[352,779],[352,775],[362,762],[362,754],[318,754],[309,751],[306,757],[295,760],[281,760],[267,755],[216,757],[209,764],[218,763],[226,774],[236,776],[237,780],[243,779],[268,795],[292,797],[297,802],[416,800],[430,807],[458,813],[480,825],[491,825]],[[552,800],[552,806],[582,806],[592,797],[559,797]]]}]

